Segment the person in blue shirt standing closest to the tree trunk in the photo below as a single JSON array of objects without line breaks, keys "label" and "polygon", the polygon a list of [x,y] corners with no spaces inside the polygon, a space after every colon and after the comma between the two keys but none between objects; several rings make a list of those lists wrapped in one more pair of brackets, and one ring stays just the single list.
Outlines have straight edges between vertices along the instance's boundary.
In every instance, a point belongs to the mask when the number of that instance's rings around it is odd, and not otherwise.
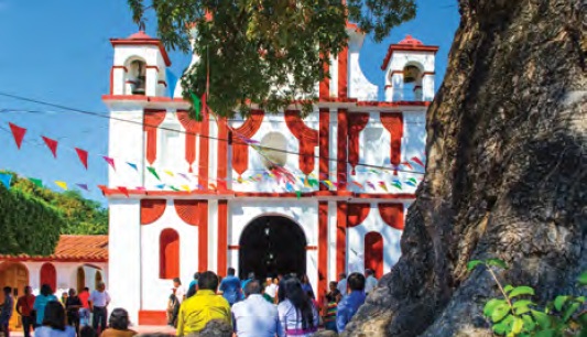
[{"label": "person in blue shirt standing closest to the tree trunk", "polygon": [[345,327],[365,303],[365,276],[360,273],[351,273],[347,279],[349,293],[338,303],[336,312],[336,328],[343,333]]}]

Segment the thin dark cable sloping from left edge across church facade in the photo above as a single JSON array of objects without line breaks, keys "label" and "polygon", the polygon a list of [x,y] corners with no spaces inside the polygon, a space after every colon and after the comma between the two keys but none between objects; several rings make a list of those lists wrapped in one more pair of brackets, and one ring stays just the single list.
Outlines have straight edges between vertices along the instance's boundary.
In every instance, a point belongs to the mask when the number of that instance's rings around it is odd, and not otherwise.
[{"label": "thin dark cable sloping from left edge across church facade", "polygon": [[[138,126],[141,126],[141,127],[152,127],[152,128],[157,128],[157,129],[165,130],[165,131],[173,131],[173,132],[177,132],[180,134],[198,135],[200,138],[205,138],[205,139],[209,139],[209,140],[216,140],[216,141],[224,141],[224,142],[228,142],[228,143],[231,143],[231,141],[232,141],[231,139],[224,139],[224,138],[217,138],[217,137],[210,137],[210,135],[203,135],[203,134],[198,134],[198,133],[195,133],[195,132],[182,131],[182,130],[177,130],[177,129],[165,128],[165,127],[161,127],[161,126],[148,124],[148,123],[143,123],[143,122],[134,121],[134,120],[128,120],[128,119],[123,119],[123,118],[112,117],[112,116],[110,116],[110,112],[100,113],[100,112],[87,111],[87,110],[83,110],[83,109],[78,109],[78,108],[72,108],[72,107],[67,107],[67,106],[63,106],[63,105],[57,105],[57,104],[53,104],[53,102],[47,102],[47,101],[34,99],[34,98],[12,95],[12,94],[8,94],[8,93],[3,93],[3,91],[0,91],[0,96],[4,96],[4,97],[8,97],[8,98],[22,100],[22,101],[28,101],[28,102],[34,102],[34,104],[37,104],[37,105],[48,106],[48,107],[63,109],[63,110],[67,110],[67,111],[78,112],[78,113],[83,113],[83,115],[87,115],[87,116],[99,117],[99,118],[104,118],[104,119],[108,119],[108,120],[117,120],[117,121],[138,124]],[[2,109],[2,110],[7,110],[7,109]],[[14,109],[14,110],[19,110],[19,111],[22,111],[22,112],[34,112],[34,113],[43,112],[43,111],[39,111],[39,110],[20,110],[20,109]],[[318,159],[318,160],[319,159],[325,159],[325,160],[327,160],[329,162],[336,162],[336,163],[343,163],[344,162],[344,161],[340,161],[338,159],[323,157],[323,156],[318,156],[318,155],[305,155],[305,154],[300,154],[300,153],[295,153],[295,152],[287,151],[287,150],[264,146],[264,145],[261,145],[261,144],[254,144],[254,146],[257,146],[259,149],[262,149],[262,150],[265,150],[265,151],[280,152],[280,153],[292,154],[292,155],[303,155],[305,157],[314,157],[314,159]],[[350,164],[350,162],[348,162],[348,161],[345,161],[344,163],[345,164]],[[365,164],[365,163],[358,163],[357,166],[387,170],[387,171],[394,171],[394,172],[396,171],[396,172],[411,173],[411,174],[424,174],[424,172],[406,171],[406,170],[401,170],[401,168],[387,167],[387,166],[372,165],[372,164]]]}]

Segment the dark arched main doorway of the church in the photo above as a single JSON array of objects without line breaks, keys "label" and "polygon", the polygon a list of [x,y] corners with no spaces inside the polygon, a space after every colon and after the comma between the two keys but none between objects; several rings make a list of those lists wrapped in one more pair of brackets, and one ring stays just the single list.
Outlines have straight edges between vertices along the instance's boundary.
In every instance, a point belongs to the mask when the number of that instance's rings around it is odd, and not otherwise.
[{"label": "dark arched main doorway of the church", "polygon": [[278,274],[306,273],[307,240],[302,227],[281,215],[251,220],[239,241],[239,278],[254,272],[257,279]]}]

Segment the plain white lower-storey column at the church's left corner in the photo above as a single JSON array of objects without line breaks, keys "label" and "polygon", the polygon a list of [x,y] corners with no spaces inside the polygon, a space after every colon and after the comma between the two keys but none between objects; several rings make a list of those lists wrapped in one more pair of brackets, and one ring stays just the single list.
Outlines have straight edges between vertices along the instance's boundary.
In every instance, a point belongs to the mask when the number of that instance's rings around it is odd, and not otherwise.
[{"label": "plain white lower-storey column at the church's left corner", "polygon": [[108,241],[110,307],[123,307],[131,322],[141,309],[141,225],[137,199],[110,199]]}]

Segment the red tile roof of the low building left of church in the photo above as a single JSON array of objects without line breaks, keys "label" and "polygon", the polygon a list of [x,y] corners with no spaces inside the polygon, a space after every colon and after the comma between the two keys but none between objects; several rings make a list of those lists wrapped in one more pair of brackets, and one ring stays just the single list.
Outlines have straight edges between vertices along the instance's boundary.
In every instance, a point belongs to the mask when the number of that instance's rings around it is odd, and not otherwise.
[{"label": "red tile roof of the low building left of church", "polygon": [[2,256],[3,260],[62,261],[62,262],[107,262],[108,236],[61,236],[55,252],[42,256]]}]

